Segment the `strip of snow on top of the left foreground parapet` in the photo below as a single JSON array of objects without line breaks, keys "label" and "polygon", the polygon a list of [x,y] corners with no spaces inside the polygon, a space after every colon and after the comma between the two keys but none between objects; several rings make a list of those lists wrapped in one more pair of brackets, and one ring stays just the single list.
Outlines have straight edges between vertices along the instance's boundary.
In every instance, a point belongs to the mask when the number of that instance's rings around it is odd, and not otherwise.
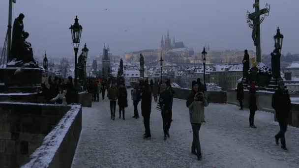
[{"label": "strip of snow on top of the left foreground parapet", "polygon": [[81,105],[72,105],[56,127],[44,138],[41,146],[30,155],[30,161],[21,168],[48,168],[80,109]]}]

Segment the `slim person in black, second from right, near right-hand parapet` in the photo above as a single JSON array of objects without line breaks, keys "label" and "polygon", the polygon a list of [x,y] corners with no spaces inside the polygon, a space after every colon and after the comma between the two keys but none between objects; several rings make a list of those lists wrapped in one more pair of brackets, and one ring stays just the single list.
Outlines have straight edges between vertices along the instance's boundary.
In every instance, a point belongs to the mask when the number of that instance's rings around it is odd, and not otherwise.
[{"label": "slim person in black, second from right, near right-hand parapet", "polygon": [[250,84],[249,94],[250,94],[249,95],[249,111],[250,111],[249,126],[251,128],[257,128],[254,125],[254,115],[255,115],[255,112],[258,109],[258,107],[256,105],[256,89],[255,89],[255,84],[254,83]]}]

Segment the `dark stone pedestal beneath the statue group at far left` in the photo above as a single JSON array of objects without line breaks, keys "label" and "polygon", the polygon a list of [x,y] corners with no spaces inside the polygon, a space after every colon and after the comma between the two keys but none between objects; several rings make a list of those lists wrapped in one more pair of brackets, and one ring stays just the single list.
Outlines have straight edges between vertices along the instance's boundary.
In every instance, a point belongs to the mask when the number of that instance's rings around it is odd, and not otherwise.
[{"label": "dark stone pedestal beneath the statue group at far left", "polygon": [[33,93],[40,88],[41,68],[0,68],[0,83],[4,85],[4,93]]}]

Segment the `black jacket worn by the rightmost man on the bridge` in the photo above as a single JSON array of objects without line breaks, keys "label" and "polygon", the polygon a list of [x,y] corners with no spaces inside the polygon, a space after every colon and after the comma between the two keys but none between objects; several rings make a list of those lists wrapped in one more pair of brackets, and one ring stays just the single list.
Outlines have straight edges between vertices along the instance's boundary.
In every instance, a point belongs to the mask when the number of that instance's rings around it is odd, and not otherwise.
[{"label": "black jacket worn by the rightmost man on the bridge", "polygon": [[287,90],[278,89],[272,95],[272,108],[276,111],[276,118],[286,119],[291,110],[291,99]]}]

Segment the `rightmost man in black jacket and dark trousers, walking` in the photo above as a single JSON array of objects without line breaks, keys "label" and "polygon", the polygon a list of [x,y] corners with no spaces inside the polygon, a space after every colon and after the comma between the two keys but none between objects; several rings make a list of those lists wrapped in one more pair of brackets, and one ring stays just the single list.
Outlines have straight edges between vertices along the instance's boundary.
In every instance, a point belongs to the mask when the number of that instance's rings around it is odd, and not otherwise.
[{"label": "rightmost man in black jacket and dark trousers, walking", "polygon": [[288,127],[288,117],[291,110],[291,99],[287,90],[284,89],[283,81],[279,82],[278,90],[272,96],[272,108],[275,110],[276,118],[279,123],[280,131],[275,135],[276,144],[281,142],[281,148],[288,150],[286,147],[285,132]]}]

